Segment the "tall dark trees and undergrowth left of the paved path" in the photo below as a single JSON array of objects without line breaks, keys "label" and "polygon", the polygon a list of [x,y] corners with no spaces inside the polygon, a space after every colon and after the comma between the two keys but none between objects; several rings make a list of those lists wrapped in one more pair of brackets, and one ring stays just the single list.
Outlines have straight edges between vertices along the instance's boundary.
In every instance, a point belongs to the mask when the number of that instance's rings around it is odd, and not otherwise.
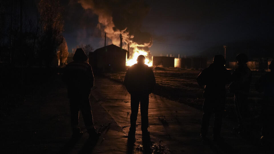
[{"label": "tall dark trees and undergrowth left of the paved path", "polygon": [[58,0],[0,0],[0,121],[61,72],[53,66],[68,57],[62,11]]}]

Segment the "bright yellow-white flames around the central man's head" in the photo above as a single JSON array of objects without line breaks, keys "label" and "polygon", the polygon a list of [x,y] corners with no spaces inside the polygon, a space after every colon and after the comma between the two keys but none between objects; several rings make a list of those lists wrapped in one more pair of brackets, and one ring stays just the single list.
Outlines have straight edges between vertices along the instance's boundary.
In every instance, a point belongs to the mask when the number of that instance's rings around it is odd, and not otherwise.
[{"label": "bright yellow-white flames around the central man's head", "polygon": [[134,48],[133,54],[130,57],[130,59],[126,60],[126,66],[132,66],[132,65],[136,64],[137,63],[137,58],[138,58],[139,55],[144,55],[146,57],[145,64],[148,65],[149,67],[152,66],[152,62],[148,58],[148,52],[146,52],[144,50],[139,50],[137,48]]}]

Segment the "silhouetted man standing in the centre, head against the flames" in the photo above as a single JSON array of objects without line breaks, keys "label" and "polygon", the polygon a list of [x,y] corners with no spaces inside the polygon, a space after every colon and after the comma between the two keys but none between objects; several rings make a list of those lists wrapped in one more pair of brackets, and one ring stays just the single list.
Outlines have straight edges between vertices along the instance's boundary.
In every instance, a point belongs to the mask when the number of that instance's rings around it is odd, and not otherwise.
[{"label": "silhouetted man standing in the centre, head against the flames", "polygon": [[155,86],[155,77],[151,68],[145,63],[145,56],[140,55],[137,64],[134,64],[126,71],[124,84],[130,93],[130,129],[128,136],[135,139],[136,120],[140,102],[142,135],[149,135],[148,131],[148,100],[149,94]]}]

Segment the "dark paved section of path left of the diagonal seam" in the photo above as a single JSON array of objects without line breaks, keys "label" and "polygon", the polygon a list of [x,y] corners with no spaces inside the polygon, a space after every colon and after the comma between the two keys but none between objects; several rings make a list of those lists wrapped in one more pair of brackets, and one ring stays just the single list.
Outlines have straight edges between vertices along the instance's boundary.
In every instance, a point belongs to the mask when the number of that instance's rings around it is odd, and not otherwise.
[{"label": "dark paved section of path left of the diagonal seam", "polygon": [[92,96],[90,100],[95,127],[102,132],[95,146],[87,142],[81,114],[84,134],[78,141],[71,140],[67,89],[57,77],[37,87],[1,121],[0,153],[126,153],[126,133],[100,103]]}]

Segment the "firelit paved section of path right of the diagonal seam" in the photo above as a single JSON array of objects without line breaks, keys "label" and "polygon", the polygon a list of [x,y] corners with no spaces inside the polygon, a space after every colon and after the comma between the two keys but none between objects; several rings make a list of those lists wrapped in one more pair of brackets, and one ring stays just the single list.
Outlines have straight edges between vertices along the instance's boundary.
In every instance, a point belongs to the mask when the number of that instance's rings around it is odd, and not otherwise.
[{"label": "firelit paved section of path right of the diagonal seam", "polygon": [[[107,78],[95,78],[95,83],[96,85],[91,94],[123,128],[124,132],[128,133],[130,126],[130,94],[122,84]],[[148,117],[150,127],[148,130],[150,131],[150,138],[156,145],[160,142],[165,147],[166,153],[254,153],[258,151],[256,146],[232,132],[236,123],[226,120],[223,122],[222,129],[225,142],[222,144],[204,144],[199,136],[202,111],[155,94],[150,94],[149,97]],[[142,144],[140,120],[139,112],[135,146]],[[209,128],[209,134],[212,134],[212,126]],[[210,135],[208,137],[211,138]]]}]

